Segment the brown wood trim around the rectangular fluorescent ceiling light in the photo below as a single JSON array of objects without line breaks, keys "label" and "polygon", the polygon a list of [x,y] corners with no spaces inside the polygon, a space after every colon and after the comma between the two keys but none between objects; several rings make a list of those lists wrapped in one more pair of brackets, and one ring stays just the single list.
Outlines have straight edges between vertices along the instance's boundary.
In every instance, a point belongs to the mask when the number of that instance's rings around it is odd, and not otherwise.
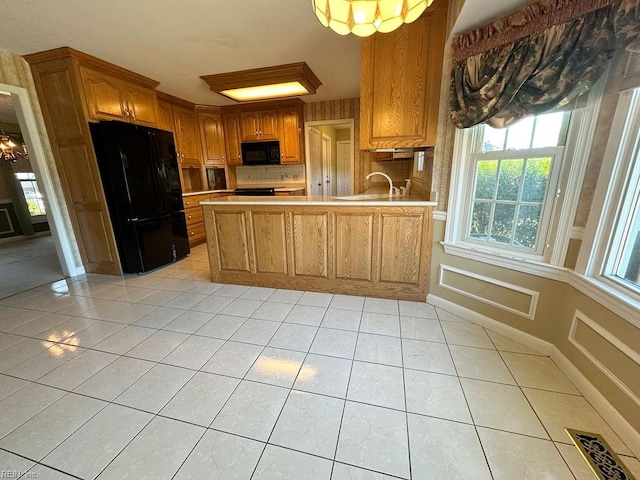
[{"label": "brown wood trim around the rectangular fluorescent ceiling light", "polygon": [[237,72],[217,73],[200,77],[212,92],[234,88],[254,87],[257,85],[271,85],[274,83],[300,82],[309,94],[316,93],[322,82],[305,62],[274,65],[272,67],[240,70]]}]

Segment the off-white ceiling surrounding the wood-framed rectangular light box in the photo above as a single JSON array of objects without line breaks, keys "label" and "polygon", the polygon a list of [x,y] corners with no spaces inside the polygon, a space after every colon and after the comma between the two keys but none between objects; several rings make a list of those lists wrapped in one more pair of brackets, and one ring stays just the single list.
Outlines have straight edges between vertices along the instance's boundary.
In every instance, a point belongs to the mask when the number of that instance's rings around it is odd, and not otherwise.
[{"label": "off-white ceiling surrounding the wood-framed rectangular light box", "polygon": [[[456,31],[522,3],[467,0]],[[159,90],[194,103],[234,103],[201,75],[301,61],[323,83],[305,101],[360,96],[360,39],[320,25],[309,0],[2,1],[0,49],[24,55],[62,46],[153,78]]]}]

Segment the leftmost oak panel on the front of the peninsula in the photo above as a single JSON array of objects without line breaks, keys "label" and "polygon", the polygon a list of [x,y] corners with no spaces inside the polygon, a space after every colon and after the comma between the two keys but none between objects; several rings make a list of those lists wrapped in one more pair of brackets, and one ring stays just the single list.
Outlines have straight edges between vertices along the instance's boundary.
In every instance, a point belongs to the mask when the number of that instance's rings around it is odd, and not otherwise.
[{"label": "leftmost oak panel on the front of the peninsula", "polygon": [[249,242],[244,213],[214,213],[214,222],[220,271],[249,272]]}]

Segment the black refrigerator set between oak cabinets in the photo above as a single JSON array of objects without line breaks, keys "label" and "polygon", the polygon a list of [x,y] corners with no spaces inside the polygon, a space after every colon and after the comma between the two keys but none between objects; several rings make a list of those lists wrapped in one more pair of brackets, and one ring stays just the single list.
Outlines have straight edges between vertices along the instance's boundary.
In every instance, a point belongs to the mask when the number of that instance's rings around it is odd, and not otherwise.
[{"label": "black refrigerator set between oak cabinets", "polygon": [[186,257],[173,134],[116,121],[90,129],[122,269],[142,273]]}]

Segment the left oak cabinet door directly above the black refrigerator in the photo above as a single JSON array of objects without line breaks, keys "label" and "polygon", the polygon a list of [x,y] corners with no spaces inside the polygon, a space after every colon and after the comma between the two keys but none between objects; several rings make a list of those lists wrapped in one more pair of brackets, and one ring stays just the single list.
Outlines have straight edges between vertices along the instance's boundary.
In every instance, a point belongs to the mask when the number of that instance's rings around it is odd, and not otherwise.
[{"label": "left oak cabinet door directly above the black refrigerator", "polygon": [[128,120],[123,83],[115,77],[80,67],[90,120]]}]

